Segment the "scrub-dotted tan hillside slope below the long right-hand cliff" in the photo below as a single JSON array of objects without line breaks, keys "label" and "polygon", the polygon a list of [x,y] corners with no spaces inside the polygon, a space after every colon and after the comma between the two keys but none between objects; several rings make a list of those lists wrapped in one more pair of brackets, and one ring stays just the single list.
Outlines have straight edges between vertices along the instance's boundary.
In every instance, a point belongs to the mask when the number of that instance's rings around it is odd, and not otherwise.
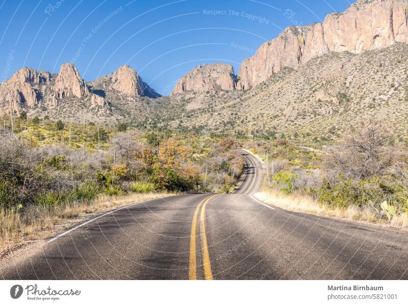
[{"label": "scrub-dotted tan hillside slope below the long right-hand cliff", "polygon": [[227,134],[310,134],[312,140],[377,120],[408,140],[407,68],[404,43],[361,54],[330,51],[251,90],[186,93],[184,109],[168,124]]}]

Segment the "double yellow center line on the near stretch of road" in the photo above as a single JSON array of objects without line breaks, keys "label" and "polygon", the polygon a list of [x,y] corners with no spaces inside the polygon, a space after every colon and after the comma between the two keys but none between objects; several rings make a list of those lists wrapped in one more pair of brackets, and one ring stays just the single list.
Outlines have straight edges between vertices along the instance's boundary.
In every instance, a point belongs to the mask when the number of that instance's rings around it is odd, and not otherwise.
[{"label": "double yellow center line on the near stretch of road", "polygon": [[202,200],[195,209],[193,222],[191,224],[190,235],[190,265],[189,265],[189,279],[197,280],[197,255],[196,255],[196,231],[197,231],[197,218],[198,212],[202,206],[200,213],[200,231],[201,231],[201,254],[202,265],[204,268],[204,278],[206,280],[213,280],[213,273],[211,271],[210,253],[208,251],[207,235],[206,235],[206,205],[217,195],[207,197]]}]

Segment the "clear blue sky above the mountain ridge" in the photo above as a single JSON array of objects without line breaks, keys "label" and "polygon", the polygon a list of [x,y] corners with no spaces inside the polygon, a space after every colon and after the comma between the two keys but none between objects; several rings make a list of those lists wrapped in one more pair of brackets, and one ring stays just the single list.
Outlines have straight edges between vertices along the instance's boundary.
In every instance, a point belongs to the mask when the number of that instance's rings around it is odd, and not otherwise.
[{"label": "clear blue sky above the mountain ridge", "polygon": [[0,0],[0,81],[23,66],[89,81],[128,64],[163,95],[199,64],[242,60],[289,25],[354,0]]}]

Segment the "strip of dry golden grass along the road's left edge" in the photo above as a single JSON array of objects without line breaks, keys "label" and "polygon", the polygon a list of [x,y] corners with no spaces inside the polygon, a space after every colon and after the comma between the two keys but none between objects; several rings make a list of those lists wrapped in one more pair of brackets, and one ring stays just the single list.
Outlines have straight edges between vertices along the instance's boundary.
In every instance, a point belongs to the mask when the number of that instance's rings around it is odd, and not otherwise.
[{"label": "strip of dry golden grass along the road's left edge", "polygon": [[53,236],[56,232],[74,223],[80,223],[86,218],[85,216],[93,216],[127,204],[172,195],[175,194],[169,192],[132,193],[119,197],[101,196],[93,201],[71,203],[53,210],[34,206],[25,209],[23,213],[0,210],[0,235],[2,236],[0,249],[22,241]]}]

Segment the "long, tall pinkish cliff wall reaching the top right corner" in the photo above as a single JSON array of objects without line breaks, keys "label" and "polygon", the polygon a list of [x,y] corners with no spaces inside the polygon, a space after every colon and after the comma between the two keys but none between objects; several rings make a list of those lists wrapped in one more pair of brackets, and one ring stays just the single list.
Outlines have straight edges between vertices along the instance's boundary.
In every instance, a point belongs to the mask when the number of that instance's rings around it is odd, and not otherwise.
[{"label": "long, tall pinkish cliff wall reaching the top right corner", "polygon": [[243,61],[239,86],[259,85],[284,67],[297,69],[329,51],[362,53],[408,43],[408,0],[359,0],[322,24],[288,27]]}]

